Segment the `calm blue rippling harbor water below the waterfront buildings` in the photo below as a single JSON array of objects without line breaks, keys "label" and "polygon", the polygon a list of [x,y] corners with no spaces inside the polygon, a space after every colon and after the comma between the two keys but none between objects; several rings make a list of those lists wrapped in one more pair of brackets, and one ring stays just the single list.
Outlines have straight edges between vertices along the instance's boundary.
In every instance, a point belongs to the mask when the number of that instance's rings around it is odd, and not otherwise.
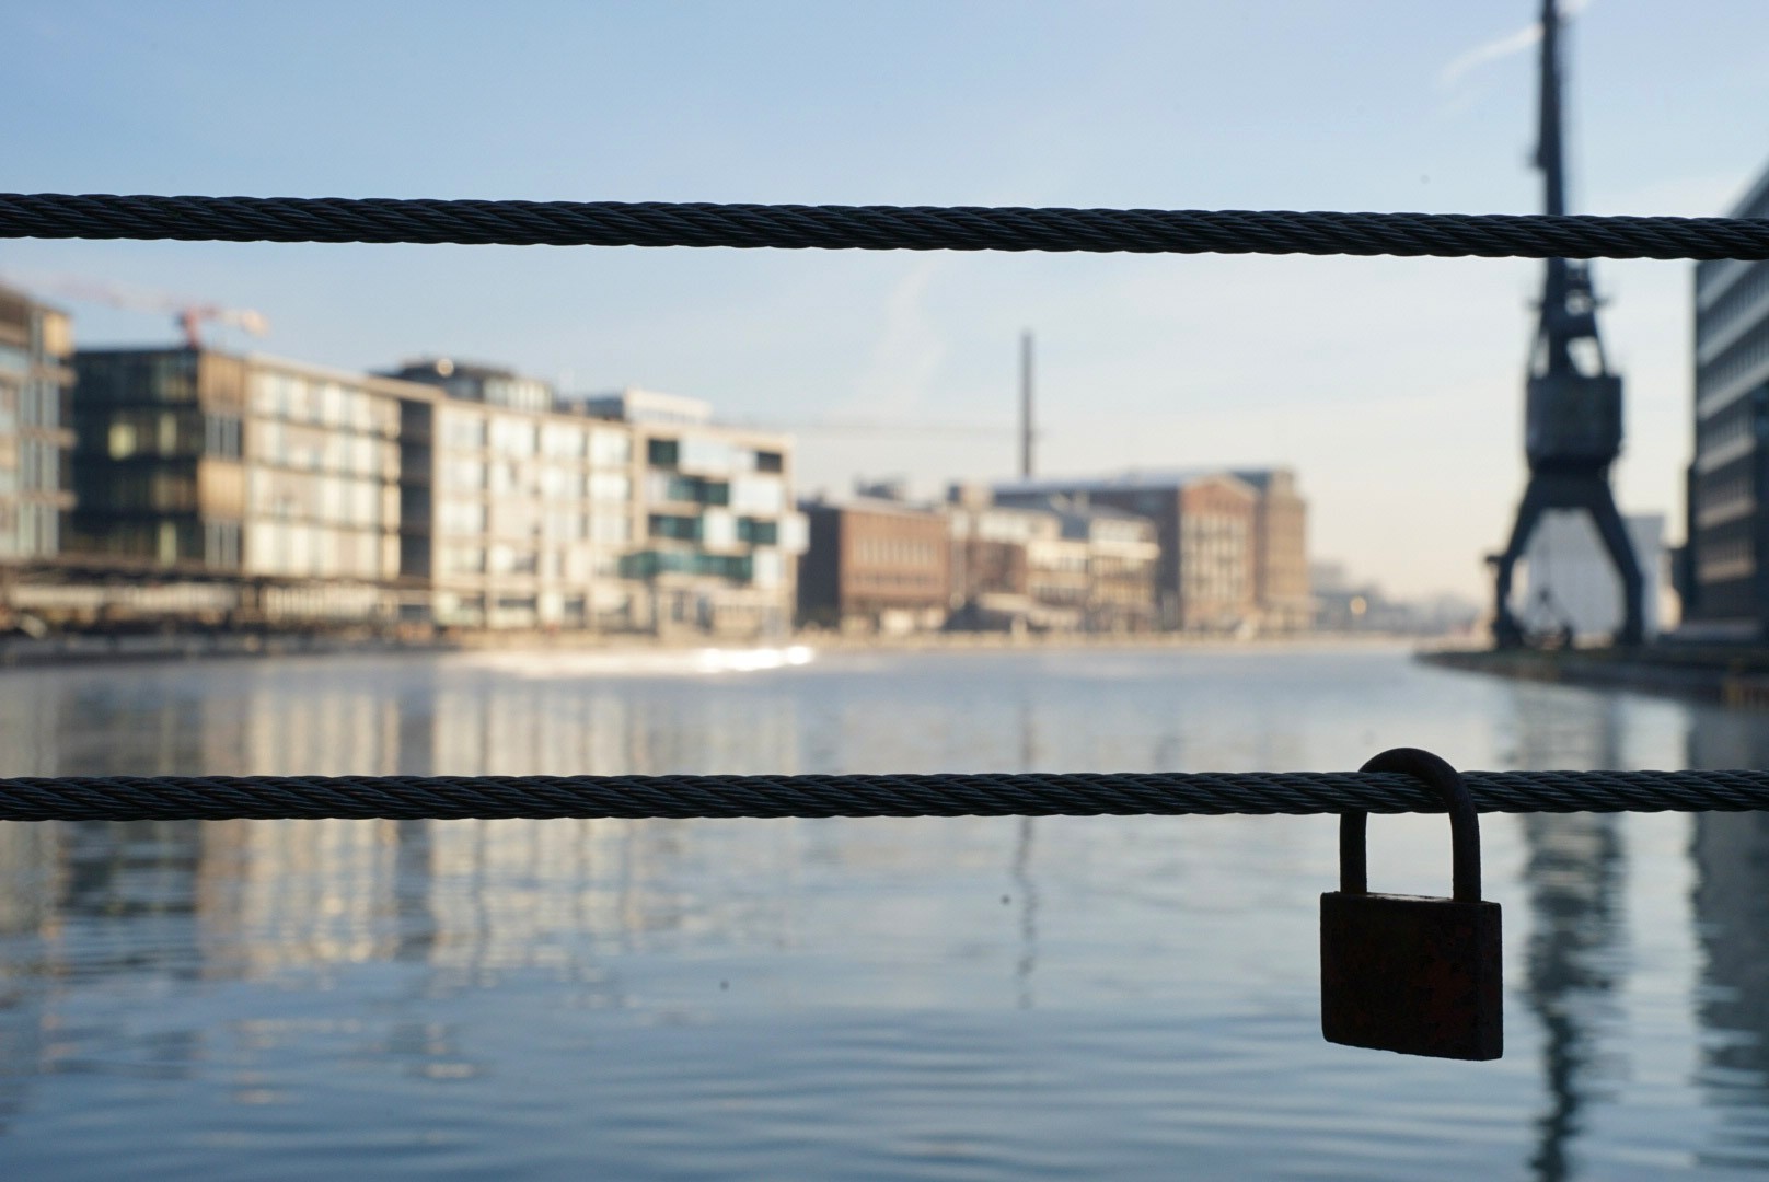
[{"label": "calm blue rippling harbor water below the waterfront buildings", "polygon": [[[1769,764],[1403,648],[0,674],[0,773]],[[4,1178],[1728,1178],[1769,816],[1488,816],[1505,1056],[1320,1037],[1332,817],[0,825]],[[1371,886],[1447,894],[1442,817]]]}]

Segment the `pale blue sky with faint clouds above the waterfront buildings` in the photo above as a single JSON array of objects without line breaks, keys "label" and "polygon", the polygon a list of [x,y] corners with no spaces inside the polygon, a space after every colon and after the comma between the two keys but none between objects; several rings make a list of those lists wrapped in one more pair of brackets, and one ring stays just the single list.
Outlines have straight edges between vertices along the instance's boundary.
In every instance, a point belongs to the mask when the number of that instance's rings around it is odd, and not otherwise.
[{"label": "pale blue sky with faint clouds above the waterfront buildings", "polygon": [[[1532,0],[0,7],[12,191],[1527,212]],[[490,18],[490,12],[497,18]],[[1511,50],[1509,53],[1505,50]],[[1721,212],[1769,163],[1769,9],[1594,0],[1573,200]],[[739,421],[1010,428],[1040,469],[1290,464],[1313,549],[1484,589],[1523,480],[1539,264],[0,242],[0,274],[264,311],[253,343],[440,352]],[[1689,267],[1597,264],[1624,511],[1681,518]],[[87,343],[170,340],[69,303]],[[246,345],[248,342],[234,342]],[[800,435],[801,485],[1012,474],[1010,434]]]}]

